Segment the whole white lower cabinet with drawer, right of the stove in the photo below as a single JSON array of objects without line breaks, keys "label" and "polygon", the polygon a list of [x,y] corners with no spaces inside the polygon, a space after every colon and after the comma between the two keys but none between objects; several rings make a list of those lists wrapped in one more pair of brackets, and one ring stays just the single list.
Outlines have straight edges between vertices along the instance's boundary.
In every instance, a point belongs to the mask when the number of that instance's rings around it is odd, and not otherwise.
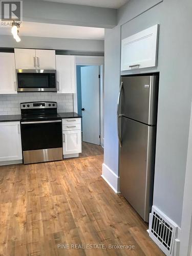
[{"label": "whole white lower cabinet with drawer, right of the stove", "polygon": [[[62,119],[63,124],[65,120]],[[63,158],[78,157],[78,154],[81,153],[81,125],[79,123],[73,123],[73,125],[68,125],[68,127],[66,125],[62,125],[62,127]]]}]

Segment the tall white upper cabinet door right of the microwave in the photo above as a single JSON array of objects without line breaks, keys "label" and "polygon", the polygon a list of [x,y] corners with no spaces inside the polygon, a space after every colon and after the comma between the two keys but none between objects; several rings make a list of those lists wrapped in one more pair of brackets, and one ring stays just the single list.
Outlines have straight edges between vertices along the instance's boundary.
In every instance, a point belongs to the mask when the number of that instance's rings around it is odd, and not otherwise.
[{"label": "tall white upper cabinet door right of the microwave", "polygon": [[75,56],[56,55],[57,93],[75,93]]}]

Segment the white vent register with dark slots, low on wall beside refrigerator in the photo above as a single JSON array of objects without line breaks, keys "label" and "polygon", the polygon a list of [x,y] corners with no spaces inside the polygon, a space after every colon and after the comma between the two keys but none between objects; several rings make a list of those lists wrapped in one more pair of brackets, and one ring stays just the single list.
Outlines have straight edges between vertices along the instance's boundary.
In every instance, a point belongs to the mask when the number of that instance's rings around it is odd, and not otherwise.
[{"label": "white vent register with dark slots, low on wall beside refrigerator", "polygon": [[178,226],[157,207],[152,207],[149,234],[165,255],[174,255],[174,241]]}]

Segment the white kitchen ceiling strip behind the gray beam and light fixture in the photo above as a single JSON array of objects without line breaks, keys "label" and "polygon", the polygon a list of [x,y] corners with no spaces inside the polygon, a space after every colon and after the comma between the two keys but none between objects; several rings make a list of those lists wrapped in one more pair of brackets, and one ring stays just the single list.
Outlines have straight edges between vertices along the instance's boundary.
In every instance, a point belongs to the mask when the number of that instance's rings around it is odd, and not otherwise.
[{"label": "white kitchen ceiling strip behind the gray beam and light fixture", "polygon": [[[11,28],[0,27],[0,34],[11,35]],[[104,39],[103,28],[78,27],[69,25],[23,22],[19,28],[20,36],[40,36],[75,39]]]}]

